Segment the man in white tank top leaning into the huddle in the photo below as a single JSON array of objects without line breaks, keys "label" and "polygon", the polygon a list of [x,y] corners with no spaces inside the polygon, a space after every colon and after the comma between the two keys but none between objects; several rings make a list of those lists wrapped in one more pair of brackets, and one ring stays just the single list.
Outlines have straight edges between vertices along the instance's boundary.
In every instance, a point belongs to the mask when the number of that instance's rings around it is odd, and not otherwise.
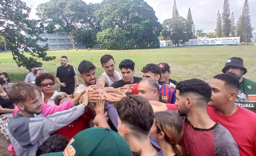
[{"label": "man in white tank top leaning into the huddle", "polygon": [[101,66],[105,72],[101,74],[97,81],[99,87],[110,87],[114,82],[122,79],[121,73],[115,71],[115,65],[116,62],[114,61],[113,56],[106,54],[101,57]]}]

